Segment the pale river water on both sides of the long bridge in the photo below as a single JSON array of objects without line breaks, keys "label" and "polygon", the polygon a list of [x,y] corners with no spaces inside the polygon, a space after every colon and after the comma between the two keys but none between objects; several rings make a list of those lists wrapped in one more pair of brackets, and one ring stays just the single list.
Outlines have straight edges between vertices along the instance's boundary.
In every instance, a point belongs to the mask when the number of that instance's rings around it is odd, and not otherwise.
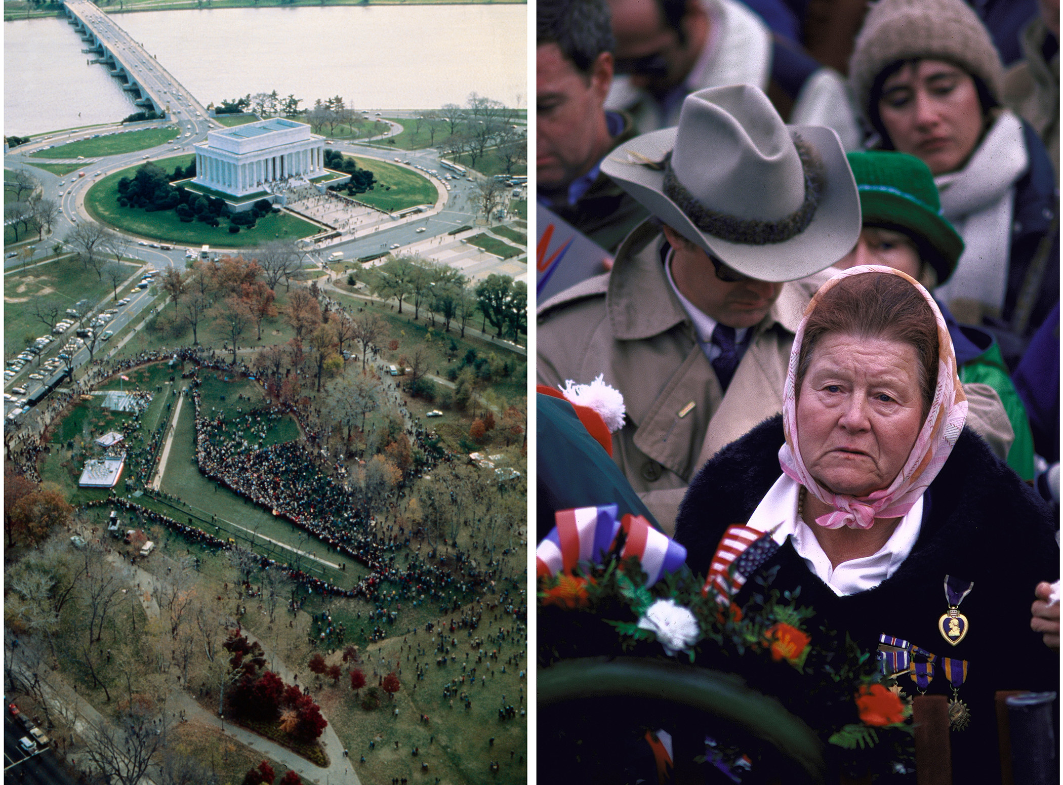
[{"label": "pale river water on both sides of the long bridge", "polygon": [[[204,8],[115,20],[203,104],[276,90],[342,96],[359,109],[463,105],[471,92],[527,106],[527,5]],[[87,65],[65,19],[4,22],[3,132],[120,120],[138,109]]]}]

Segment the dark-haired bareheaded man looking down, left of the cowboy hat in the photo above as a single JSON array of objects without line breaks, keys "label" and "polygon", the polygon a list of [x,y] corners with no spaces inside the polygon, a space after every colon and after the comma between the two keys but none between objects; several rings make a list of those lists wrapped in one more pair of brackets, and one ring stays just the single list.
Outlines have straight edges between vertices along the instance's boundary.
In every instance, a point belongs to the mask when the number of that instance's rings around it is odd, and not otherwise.
[{"label": "dark-haired bareheaded man looking down, left of the cowboy hat", "polygon": [[609,7],[544,0],[536,13],[538,200],[611,252],[646,212],[598,171],[610,150],[635,136],[628,119],[603,108],[612,84]]}]

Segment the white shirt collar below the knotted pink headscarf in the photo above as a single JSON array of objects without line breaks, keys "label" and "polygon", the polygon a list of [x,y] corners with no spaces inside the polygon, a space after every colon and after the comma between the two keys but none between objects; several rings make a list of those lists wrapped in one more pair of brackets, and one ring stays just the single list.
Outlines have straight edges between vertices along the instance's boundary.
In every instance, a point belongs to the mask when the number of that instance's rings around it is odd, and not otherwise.
[{"label": "white shirt collar below the knotted pink headscarf", "polygon": [[758,531],[770,531],[778,526],[772,539],[779,545],[786,543],[788,536],[792,536],[797,556],[839,597],[874,588],[896,573],[897,567],[912,552],[923,526],[922,496],[897,524],[885,545],[871,556],[831,567],[830,559],[823,551],[812,529],[797,517],[799,490],[800,485],[783,474],[753,511],[746,526]]}]

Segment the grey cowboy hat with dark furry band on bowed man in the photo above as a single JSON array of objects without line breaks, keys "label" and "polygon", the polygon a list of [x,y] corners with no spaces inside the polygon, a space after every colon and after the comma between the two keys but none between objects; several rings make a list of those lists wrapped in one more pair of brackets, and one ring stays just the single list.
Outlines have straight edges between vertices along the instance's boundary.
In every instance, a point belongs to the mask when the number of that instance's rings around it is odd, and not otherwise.
[{"label": "grey cowboy hat with dark furry band on bowed man", "polygon": [[860,197],[838,134],[786,125],[749,85],[691,93],[678,127],[621,144],[602,171],[663,223],[758,280],[824,270],[860,236]]}]

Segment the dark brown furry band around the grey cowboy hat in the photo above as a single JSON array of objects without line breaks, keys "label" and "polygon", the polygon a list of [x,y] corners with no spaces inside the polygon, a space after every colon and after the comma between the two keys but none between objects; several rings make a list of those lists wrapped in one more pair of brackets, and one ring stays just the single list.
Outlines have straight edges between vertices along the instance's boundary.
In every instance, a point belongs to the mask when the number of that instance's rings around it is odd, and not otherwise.
[{"label": "dark brown furry band around the grey cowboy hat", "polygon": [[816,158],[812,148],[797,134],[794,134],[793,141],[805,172],[805,200],[800,207],[778,221],[740,218],[706,207],[675,175],[671,153],[665,161],[663,193],[697,228],[721,240],[745,245],[786,242],[808,228],[812,222],[815,209],[820,206],[825,182],[823,164]]}]

